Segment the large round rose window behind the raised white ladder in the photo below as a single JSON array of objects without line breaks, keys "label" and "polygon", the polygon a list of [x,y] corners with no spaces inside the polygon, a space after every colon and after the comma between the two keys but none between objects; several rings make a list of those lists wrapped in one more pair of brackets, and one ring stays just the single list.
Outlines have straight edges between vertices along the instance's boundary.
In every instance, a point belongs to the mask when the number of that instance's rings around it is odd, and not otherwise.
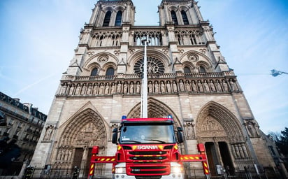
[{"label": "large round rose window behind the raised white ladder", "polygon": [[[134,65],[134,72],[142,75],[143,59],[139,59]],[[164,64],[156,57],[147,57],[147,73],[164,73]]]}]

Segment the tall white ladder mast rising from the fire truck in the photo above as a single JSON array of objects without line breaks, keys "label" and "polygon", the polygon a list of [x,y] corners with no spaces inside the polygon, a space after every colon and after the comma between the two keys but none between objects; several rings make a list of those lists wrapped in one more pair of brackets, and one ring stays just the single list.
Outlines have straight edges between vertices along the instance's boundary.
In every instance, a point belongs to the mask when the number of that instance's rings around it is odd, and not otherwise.
[{"label": "tall white ladder mast rising from the fire truck", "polygon": [[148,117],[148,108],[147,108],[147,39],[143,40],[144,43],[144,59],[143,59],[143,79],[142,79],[142,111],[141,111],[141,118],[147,118]]}]

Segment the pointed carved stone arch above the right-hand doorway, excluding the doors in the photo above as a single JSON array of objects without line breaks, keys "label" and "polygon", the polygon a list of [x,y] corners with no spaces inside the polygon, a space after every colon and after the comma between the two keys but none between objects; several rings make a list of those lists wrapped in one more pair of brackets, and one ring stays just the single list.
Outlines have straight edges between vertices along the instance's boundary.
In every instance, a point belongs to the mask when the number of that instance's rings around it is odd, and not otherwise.
[{"label": "pointed carved stone arch above the right-hand doorway, excluding the doors", "polygon": [[[230,142],[244,141],[243,129],[237,117],[215,101],[208,102],[197,115],[196,134],[199,138],[206,136],[204,135],[205,128],[210,133],[213,130],[209,126],[205,126],[209,122],[216,126],[217,131],[220,131],[219,136],[226,137]],[[215,136],[216,134],[213,134],[213,137]]]}]

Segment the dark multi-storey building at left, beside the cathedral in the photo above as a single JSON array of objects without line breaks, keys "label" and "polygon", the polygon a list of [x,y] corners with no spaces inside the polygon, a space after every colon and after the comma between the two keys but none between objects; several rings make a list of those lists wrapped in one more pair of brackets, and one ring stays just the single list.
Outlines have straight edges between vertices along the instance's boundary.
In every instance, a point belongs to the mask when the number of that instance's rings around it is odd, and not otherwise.
[{"label": "dark multi-storey building at left, beside the cathedral", "polygon": [[[0,127],[1,150],[3,150],[0,155],[0,176],[17,176],[23,163],[29,164],[31,161],[47,115],[33,108],[31,103],[20,103],[20,99],[13,99],[2,92],[0,92],[0,112],[6,116],[7,123]],[[10,143],[10,146],[15,144],[20,148],[20,155],[17,155],[13,162],[9,162],[10,158],[3,159],[3,156],[8,156],[11,152],[11,149],[5,149],[6,143]]]}]

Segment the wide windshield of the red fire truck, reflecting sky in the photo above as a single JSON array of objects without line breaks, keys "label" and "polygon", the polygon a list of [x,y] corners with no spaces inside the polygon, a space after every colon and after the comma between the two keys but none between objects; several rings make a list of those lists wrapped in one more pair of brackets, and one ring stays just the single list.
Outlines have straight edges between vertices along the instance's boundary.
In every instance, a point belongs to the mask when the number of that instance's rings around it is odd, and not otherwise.
[{"label": "wide windshield of the red fire truck, reflecting sky", "polygon": [[172,124],[124,125],[120,143],[175,143]]}]

